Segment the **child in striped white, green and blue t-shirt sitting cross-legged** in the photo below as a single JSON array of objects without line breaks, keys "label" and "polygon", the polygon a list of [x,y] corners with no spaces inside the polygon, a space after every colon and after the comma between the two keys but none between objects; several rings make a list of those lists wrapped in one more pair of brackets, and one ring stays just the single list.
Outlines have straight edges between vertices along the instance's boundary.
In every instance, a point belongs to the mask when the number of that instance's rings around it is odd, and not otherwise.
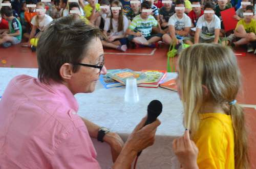
[{"label": "child in striped white, green and blue t-shirt sitting cross-legged", "polygon": [[[129,41],[132,41],[135,44],[142,44],[150,47],[156,47],[157,45],[156,42],[162,39],[162,34],[161,33],[151,34],[153,27],[157,27],[158,30],[160,31],[160,25],[158,24],[154,16],[151,15],[152,10],[148,11],[150,9],[152,9],[151,4],[147,1],[144,1],[141,4],[141,9],[140,9],[141,14],[134,17],[126,33],[129,35],[128,36]],[[141,42],[137,39],[134,39],[135,37],[140,37],[140,36],[143,36],[147,41]]]}]

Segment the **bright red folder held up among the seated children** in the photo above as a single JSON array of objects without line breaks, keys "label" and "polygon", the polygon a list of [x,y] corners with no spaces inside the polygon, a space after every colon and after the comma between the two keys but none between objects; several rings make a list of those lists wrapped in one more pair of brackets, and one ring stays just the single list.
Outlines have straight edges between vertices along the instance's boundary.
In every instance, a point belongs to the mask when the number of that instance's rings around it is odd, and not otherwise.
[{"label": "bright red folder held up among the seated children", "polygon": [[238,20],[234,19],[233,16],[236,15],[234,8],[229,8],[221,11],[221,18],[224,25],[225,32],[234,30],[237,26]]}]

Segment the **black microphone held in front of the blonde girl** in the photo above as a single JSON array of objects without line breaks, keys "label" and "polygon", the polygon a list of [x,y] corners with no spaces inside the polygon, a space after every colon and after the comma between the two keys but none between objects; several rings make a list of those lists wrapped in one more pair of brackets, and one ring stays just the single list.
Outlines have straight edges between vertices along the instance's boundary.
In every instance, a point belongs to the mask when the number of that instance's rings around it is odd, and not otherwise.
[{"label": "black microphone held in front of the blonde girl", "polygon": [[[147,106],[147,119],[144,126],[155,122],[157,117],[161,114],[162,108],[163,108],[163,105],[160,101],[158,100],[151,101],[150,104]],[[142,151],[140,151],[137,154],[137,157],[140,156],[141,152]]]}]

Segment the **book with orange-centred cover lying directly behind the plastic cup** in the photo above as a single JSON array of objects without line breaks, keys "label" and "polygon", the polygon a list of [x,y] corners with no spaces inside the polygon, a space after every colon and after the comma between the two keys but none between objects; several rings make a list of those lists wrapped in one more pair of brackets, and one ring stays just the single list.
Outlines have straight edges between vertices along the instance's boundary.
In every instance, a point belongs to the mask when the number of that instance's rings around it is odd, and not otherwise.
[{"label": "book with orange-centred cover lying directly behind the plastic cup", "polygon": [[137,80],[137,84],[143,83],[147,80],[147,77],[144,73],[135,72],[129,68],[111,71],[111,72],[107,73],[106,76],[108,76],[124,85],[126,83],[126,79],[130,78],[130,77],[134,77]]}]

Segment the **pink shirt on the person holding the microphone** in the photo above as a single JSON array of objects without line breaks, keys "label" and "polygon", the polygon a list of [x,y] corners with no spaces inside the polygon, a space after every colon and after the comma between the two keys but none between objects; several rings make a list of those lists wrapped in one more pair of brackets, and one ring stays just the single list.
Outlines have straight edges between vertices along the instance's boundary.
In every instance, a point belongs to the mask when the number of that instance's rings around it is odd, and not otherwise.
[{"label": "pink shirt on the person holding the microphone", "polygon": [[0,101],[0,168],[100,168],[77,111],[65,85],[15,77]]}]

